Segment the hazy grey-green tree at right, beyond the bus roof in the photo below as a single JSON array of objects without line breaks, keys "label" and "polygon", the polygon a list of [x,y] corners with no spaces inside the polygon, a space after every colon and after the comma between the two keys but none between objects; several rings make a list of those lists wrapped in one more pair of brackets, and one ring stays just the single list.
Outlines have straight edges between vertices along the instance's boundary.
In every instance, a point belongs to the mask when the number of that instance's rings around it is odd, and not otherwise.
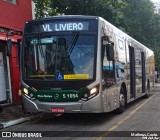
[{"label": "hazy grey-green tree at right, beyond the bus roof", "polygon": [[149,47],[155,53],[156,67],[160,69],[160,15],[154,13],[150,0],[124,0],[121,26],[133,38]]}]

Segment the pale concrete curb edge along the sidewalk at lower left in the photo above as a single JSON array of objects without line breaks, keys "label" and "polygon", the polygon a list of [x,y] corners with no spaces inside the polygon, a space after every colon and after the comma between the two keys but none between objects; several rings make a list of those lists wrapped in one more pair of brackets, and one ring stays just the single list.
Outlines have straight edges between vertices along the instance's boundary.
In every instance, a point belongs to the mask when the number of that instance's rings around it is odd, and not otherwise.
[{"label": "pale concrete curb edge along the sidewalk at lower left", "polygon": [[8,122],[5,122],[5,123],[1,123],[0,124],[0,129],[4,129],[4,128],[7,128],[7,127],[10,127],[10,126],[22,123],[22,122],[26,122],[26,121],[41,117],[41,116],[42,116],[41,114],[32,115],[32,116],[28,116],[28,117],[24,117],[24,118],[11,120],[11,121],[8,121]]}]

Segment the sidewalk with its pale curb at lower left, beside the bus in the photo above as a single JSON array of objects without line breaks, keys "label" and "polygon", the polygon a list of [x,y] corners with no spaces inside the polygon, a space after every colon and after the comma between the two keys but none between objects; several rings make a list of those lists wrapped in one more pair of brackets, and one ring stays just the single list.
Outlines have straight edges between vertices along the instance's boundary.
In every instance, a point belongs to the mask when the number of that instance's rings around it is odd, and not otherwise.
[{"label": "sidewalk with its pale curb at lower left, beside the bus", "polygon": [[38,116],[40,114],[26,116],[21,105],[5,106],[0,113],[0,129],[31,120]]}]

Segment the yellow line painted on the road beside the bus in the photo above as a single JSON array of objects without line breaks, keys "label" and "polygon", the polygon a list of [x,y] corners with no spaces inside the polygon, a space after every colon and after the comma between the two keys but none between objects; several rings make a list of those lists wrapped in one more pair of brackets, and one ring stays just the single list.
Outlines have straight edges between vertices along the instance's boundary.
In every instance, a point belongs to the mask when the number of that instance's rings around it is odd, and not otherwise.
[{"label": "yellow line painted on the road beside the bus", "polygon": [[148,101],[150,101],[156,94],[152,95],[149,99],[147,99],[145,102],[143,102],[140,106],[132,110],[127,114],[127,116],[120,121],[118,121],[116,124],[114,124],[112,127],[107,129],[103,134],[101,134],[99,137],[96,138],[96,140],[100,140],[102,137],[105,137],[110,131],[115,130],[119,125],[121,125],[124,121],[128,120],[134,113],[136,113],[141,107],[143,107]]}]

